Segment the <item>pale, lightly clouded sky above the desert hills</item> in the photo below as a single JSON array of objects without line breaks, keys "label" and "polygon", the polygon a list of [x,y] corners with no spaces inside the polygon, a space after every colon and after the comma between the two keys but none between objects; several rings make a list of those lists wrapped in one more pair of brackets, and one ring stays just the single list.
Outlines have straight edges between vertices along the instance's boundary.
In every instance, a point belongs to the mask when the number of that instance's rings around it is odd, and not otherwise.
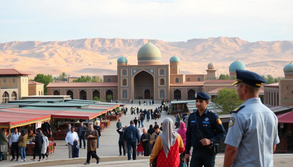
[{"label": "pale, lightly clouded sky above the desert hills", "polygon": [[83,38],[293,40],[292,0],[0,1],[0,43]]}]

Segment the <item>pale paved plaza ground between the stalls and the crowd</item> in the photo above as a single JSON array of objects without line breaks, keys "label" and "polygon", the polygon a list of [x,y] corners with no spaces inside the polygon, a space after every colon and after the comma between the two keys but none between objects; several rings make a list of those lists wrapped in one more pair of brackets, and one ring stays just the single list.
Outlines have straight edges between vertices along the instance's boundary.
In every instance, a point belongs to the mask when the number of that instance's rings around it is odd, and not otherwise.
[{"label": "pale paved plaza ground between the stalls and the crowd", "polygon": [[[154,109],[158,107],[159,104],[154,104],[154,106],[140,106],[142,109]],[[130,109],[132,105],[127,104],[127,108]],[[133,107],[138,106],[138,104],[133,104]],[[131,115],[130,111],[127,112],[126,116],[121,117],[122,126],[129,125],[130,120],[133,120],[136,115]],[[149,125],[154,125],[154,122],[156,121],[159,125],[161,124],[162,120],[166,117],[170,117],[173,120],[172,115],[165,115],[165,113],[162,113],[161,118],[159,120],[150,120],[150,122],[144,121],[144,126],[148,129]],[[141,128],[142,131],[142,128]],[[110,127],[105,128],[103,132],[101,132],[100,137],[100,145],[99,149],[97,149],[97,154],[100,157],[104,157],[101,159],[101,162],[98,164],[98,166],[119,166],[119,167],[132,167],[132,166],[148,166],[149,160],[147,159],[138,159],[136,161],[127,161],[127,157],[115,157],[119,155],[118,151],[118,140],[119,140],[119,134],[116,132],[116,121],[111,121]],[[51,158],[47,161],[42,162],[33,162],[30,161],[32,156],[27,156],[27,162],[16,162],[16,161],[2,161],[0,162],[0,166],[15,166],[15,165],[22,165],[24,167],[28,166],[64,166],[64,167],[73,167],[73,166],[84,166],[83,163],[85,163],[85,157],[86,157],[86,149],[81,149],[79,151],[79,156],[81,158],[79,159],[70,159],[68,158],[68,147],[65,146],[64,140],[56,140],[56,147],[55,151],[52,154],[49,154]],[[11,156],[10,156],[11,158]],[[61,160],[62,159],[62,160]],[[56,161],[60,160],[60,161]],[[125,161],[123,161],[125,160]],[[218,155],[216,157],[216,167],[223,166],[224,161],[224,155]],[[42,164],[46,162],[45,164]],[[96,166],[97,164],[94,163],[94,160],[91,160],[91,164],[89,166]],[[38,164],[36,164],[38,163]],[[293,164],[293,154],[275,154],[274,155],[274,166],[276,167],[285,167],[285,166],[292,166]]]}]

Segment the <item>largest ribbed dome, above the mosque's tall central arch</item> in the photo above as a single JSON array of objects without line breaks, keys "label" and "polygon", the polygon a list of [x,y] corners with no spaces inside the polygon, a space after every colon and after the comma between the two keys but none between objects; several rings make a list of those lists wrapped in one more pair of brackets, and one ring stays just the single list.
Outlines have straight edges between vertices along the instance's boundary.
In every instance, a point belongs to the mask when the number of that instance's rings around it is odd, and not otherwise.
[{"label": "largest ribbed dome, above the mosque's tall central arch", "polygon": [[151,42],[142,46],[137,52],[138,64],[160,64],[161,51]]}]

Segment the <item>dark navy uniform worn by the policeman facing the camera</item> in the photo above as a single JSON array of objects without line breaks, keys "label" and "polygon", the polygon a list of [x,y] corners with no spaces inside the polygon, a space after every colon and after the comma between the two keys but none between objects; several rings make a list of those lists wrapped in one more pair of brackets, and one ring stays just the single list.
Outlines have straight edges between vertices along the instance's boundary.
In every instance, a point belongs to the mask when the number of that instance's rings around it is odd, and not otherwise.
[{"label": "dark navy uniform worn by the policeman facing the camera", "polygon": [[195,116],[197,117],[196,119],[203,137],[211,140],[212,144],[216,144],[222,140],[226,136],[226,131],[219,116],[211,111],[208,111],[208,109],[205,110],[202,116],[200,116],[197,109],[195,109],[188,118],[185,154],[189,154],[192,146],[193,152],[190,160],[190,166],[202,167],[202,165],[204,165],[205,167],[213,167],[216,156],[213,156],[209,147],[202,145],[200,142],[201,139],[196,136],[198,129],[195,123]]}]

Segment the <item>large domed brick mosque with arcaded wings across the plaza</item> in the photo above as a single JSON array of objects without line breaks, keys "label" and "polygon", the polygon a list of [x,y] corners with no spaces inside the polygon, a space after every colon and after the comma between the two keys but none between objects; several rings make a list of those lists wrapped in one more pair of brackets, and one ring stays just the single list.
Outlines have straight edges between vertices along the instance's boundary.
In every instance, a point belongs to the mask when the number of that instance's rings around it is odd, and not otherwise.
[{"label": "large domed brick mosque with arcaded wings across the plaza", "polygon": [[[207,65],[207,74],[180,74],[180,58],[170,58],[170,64],[161,64],[161,51],[151,42],[137,52],[137,65],[127,64],[127,58],[117,59],[117,75],[104,75],[104,82],[51,82],[47,85],[48,95],[70,95],[72,99],[91,100],[97,96],[106,99],[127,101],[128,99],[194,99],[196,92],[232,88],[234,80],[217,80],[214,63]],[[240,61],[229,67],[230,76],[236,69],[245,70]]]}]

